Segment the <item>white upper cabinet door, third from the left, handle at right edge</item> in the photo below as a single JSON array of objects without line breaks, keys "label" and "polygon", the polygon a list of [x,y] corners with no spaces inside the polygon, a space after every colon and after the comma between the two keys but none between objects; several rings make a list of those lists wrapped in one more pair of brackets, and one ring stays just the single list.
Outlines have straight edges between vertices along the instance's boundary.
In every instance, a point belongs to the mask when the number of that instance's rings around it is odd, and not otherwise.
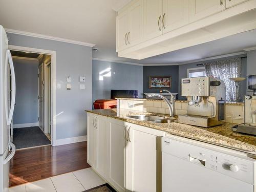
[{"label": "white upper cabinet door, third from the left, handle at right edge", "polygon": [[162,0],[143,0],[143,39],[162,34]]}]

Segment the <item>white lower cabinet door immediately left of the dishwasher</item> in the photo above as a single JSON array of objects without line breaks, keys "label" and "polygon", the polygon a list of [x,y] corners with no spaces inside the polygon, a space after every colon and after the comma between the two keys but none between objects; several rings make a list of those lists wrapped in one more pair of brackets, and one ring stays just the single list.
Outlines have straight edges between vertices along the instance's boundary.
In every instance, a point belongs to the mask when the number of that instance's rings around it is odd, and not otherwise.
[{"label": "white lower cabinet door immediately left of the dishwasher", "polygon": [[[138,125],[130,125],[127,131],[126,144],[126,191],[161,191],[161,147],[158,148],[158,143],[161,142],[157,133],[144,132],[143,128],[147,127]],[[161,136],[163,132],[159,132]],[[159,140],[159,141],[158,141]],[[159,156],[160,155],[160,156]],[[159,173],[160,172],[160,173]],[[158,180],[160,179],[160,180]]]}]

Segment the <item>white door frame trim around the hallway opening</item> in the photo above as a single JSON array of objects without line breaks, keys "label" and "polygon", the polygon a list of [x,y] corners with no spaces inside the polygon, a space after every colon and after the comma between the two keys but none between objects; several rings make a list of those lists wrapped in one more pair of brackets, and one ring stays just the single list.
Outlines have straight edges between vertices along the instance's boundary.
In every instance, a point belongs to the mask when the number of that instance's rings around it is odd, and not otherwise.
[{"label": "white door frame trim around the hallway opening", "polygon": [[27,51],[32,53],[51,55],[51,144],[56,145],[56,51],[46,49],[36,49],[30,47],[21,47],[8,45],[8,49],[12,51]]}]

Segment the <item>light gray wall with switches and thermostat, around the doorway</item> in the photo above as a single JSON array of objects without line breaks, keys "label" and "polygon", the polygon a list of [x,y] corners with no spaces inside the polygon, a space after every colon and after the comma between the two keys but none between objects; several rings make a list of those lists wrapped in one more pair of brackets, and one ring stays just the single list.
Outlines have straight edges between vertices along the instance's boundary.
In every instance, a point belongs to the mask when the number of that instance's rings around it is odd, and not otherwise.
[{"label": "light gray wall with switches and thermostat, around the doorway", "polygon": [[[9,45],[56,51],[56,139],[87,134],[84,110],[92,108],[92,48],[66,42],[8,33]],[[79,89],[79,76],[86,76],[86,89]],[[71,77],[71,90],[66,78]],[[56,86],[56,85],[55,85]]]}]

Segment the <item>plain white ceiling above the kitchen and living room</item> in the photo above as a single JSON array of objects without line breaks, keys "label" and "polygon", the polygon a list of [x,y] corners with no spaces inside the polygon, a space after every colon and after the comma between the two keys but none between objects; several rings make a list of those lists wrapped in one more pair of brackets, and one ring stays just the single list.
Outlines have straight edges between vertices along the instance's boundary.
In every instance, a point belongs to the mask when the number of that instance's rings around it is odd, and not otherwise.
[{"label": "plain white ceiling above the kitchen and living room", "polygon": [[[131,0],[0,0],[4,28],[95,44],[94,58],[134,63],[182,63],[256,46],[256,30],[135,60],[117,57],[116,11]],[[11,13],[11,14],[10,14]]]}]

